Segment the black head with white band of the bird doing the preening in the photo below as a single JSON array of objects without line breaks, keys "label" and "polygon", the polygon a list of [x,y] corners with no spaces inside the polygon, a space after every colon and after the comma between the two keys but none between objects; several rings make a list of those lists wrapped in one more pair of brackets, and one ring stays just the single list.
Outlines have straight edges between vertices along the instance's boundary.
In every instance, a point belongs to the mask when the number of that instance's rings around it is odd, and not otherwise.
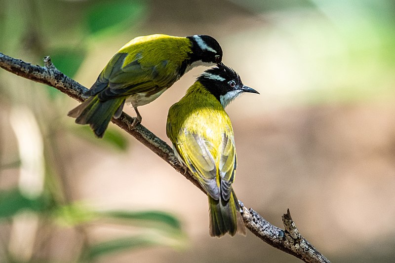
[{"label": "black head with white band of the bird doing the preening", "polygon": [[190,64],[201,61],[202,64],[213,66],[222,61],[222,48],[215,38],[206,35],[187,37],[192,43]]}]

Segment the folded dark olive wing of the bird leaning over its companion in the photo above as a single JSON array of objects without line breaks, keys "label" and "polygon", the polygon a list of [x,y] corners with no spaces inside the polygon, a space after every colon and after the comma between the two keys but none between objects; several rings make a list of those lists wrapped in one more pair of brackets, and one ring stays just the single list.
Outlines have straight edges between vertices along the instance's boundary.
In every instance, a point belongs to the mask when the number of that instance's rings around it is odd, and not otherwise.
[{"label": "folded dark olive wing of the bird leaning over its companion", "polygon": [[130,63],[123,66],[127,56],[127,53],[117,53],[84,95],[99,94],[99,99],[106,101],[140,92],[155,93],[155,90],[166,87],[173,80],[172,75],[160,77],[158,73],[159,67],[165,66],[167,61],[156,66],[143,66],[139,62],[141,53],[138,53]]}]

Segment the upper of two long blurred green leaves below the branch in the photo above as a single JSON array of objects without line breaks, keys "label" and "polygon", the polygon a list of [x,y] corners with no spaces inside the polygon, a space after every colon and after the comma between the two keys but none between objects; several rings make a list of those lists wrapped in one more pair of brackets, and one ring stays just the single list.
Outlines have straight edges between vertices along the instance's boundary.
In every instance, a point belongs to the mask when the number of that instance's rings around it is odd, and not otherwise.
[{"label": "upper of two long blurred green leaves below the branch", "polygon": [[103,216],[107,216],[115,219],[125,219],[132,221],[140,221],[147,223],[150,225],[167,225],[175,229],[181,230],[181,224],[177,218],[172,216],[169,213],[165,213],[162,211],[141,211],[141,212],[133,212],[133,211],[108,211],[102,212]]}]

